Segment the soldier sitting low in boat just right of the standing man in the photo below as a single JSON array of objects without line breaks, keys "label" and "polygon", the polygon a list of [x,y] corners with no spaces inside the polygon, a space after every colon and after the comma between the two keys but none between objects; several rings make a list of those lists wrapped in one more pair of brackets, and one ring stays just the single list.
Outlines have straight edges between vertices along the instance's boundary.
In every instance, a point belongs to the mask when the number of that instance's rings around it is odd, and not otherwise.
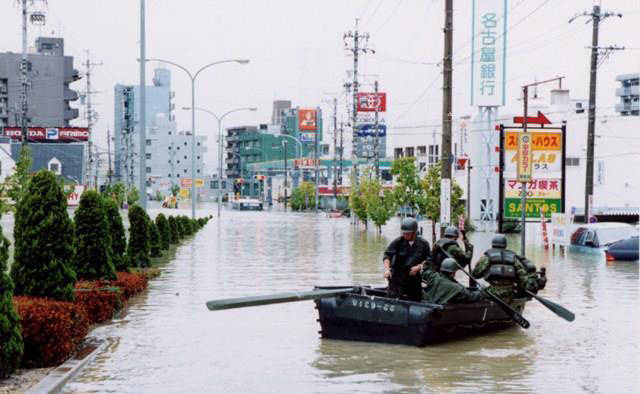
[{"label": "soldier sitting low in boat just right of the standing man", "polygon": [[422,290],[422,302],[429,304],[464,304],[484,299],[479,290],[469,290],[455,280],[458,263],[451,257],[442,260],[440,272],[425,269],[422,281],[426,287]]}]

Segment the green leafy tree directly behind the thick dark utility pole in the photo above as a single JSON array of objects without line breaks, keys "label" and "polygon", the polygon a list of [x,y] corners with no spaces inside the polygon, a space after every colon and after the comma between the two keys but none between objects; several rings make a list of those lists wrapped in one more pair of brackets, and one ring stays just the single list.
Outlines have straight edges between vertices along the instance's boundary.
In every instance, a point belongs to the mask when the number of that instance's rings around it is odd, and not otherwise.
[{"label": "green leafy tree directly behind the thick dark utility pole", "polygon": [[[424,191],[424,197],[419,201],[420,214],[431,219],[432,242],[436,239],[436,222],[440,221],[441,174],[442,164],[438,162],[429,168],[427,175],[420,182],[420,187]],[[454,220],[460,215],[464,215],[462,188],[454,180],[451,184],[451,219]]]}]

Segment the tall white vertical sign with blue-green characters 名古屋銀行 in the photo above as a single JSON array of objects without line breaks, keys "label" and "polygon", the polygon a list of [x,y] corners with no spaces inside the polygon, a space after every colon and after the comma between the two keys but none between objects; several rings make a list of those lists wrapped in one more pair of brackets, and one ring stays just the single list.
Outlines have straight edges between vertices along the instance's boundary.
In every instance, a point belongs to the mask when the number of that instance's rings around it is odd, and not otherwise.
[{"label": "tall white vertical sign with blue-green characters \u540d\u53e4\u5c4b\u9280\u884c", "polygon": [[507,0],[474,0],[471,22],[471,105],[505,101]]}]

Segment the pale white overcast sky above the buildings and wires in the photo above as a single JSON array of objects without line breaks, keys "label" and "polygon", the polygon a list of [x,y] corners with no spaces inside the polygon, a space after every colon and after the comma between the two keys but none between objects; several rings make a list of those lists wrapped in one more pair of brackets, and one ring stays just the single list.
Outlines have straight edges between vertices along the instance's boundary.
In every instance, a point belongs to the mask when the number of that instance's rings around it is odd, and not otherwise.
[{"label": "pale white overcast sky above the buildings and wires", "polygon": [[[598,70],[597,104],[610,111],[617,101],[616,75],[640,71],[640,1],[601,3],[604,10],[624,16],[604,22],[600,44],[629,48],[614,53]],[[191,70],[223,59],[251,60],[247,66],[215,66],[197,82],[197,106],[219,114],[236,107],[258,107],[257,112],[227,117],[225,126],[268,123],[274,99],[289,99],[300,107],[320,105],[327,114],[329,106],[321,104],[331,97],[326,93],[340,95],[343,116],[342,84],[352,68],[343,34],[354,29],[356,18],[360,31],[370,34],[369,47],[376,51],[361,58],[360,72],[377,75],[381,91],[387,92],[388,125],[424,125],[391,130],[390,145],[394,133],[400,138],[430,139],[440,123],[441,69],[428,63],[442,59],[444,0],[148,0],[146,4],[147,57],[171,60]],[[593,4],[591,0],[508,1],[504,111],[520,105],[519,86],[534,79],[564,75],[563,87],[571,90],[572,98],[588,97],[589,50],[585,47],[591,45],[591,24],[585,24],[586,18],[571,24],[568,20],[591,10]],[[454,1],[454,117],[476,112],[469,103],[471,5],[471,0]],[[113,129],[114,85],[139,82],[139,1],[49,0],[44,10],[47,24],[30,27],[29,45],[39,35],[61,36],[78,70],[84,71],[80,63],[87,49],[92,61],[103,63],[95,68],[92,82],[100,91],[94,98],[100,113],[95,135],[98,144],[106,147],[106,129]],[[0,1],[0,15],[0,50],[19,52],[18,2]],[[153,68],[152,64],[147,68],[148,83]],[[373,90],[367,84],[374,78],[363,77],[363,90]],[[172,80],[178,130],[188,130],[189,114],[180,108],[190,105],[189,80],[177,69],[172,69]],[[84,80],[72,87],[84,89]],[[84,125],[84,120],[76,125]],[[213,137],[216,127],[212,117],[198,115],[198,134]],[[212,137],[208,160],[214,157]],[[213,170],[214,166],[207,166]]]}]

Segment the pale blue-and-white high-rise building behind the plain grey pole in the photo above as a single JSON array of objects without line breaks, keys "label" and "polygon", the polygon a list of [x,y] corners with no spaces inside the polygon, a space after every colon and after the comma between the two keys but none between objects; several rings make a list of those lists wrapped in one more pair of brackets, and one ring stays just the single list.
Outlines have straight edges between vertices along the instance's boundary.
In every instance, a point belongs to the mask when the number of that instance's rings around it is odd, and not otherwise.
[{"label": "pale blue-and-white high-rise building behind the plain grey pole", "polygon": [[[174,97],[171,73],[164,68],[154,71],[153,85],[147,86],[145,159],[147,193],[167,195],[174,185],[187,185],[192,175],[191,132],[177,132],[173,116]],[[139,86],[116,85],[114,119],[114,181],[137,186],[140,174]],[[203,156],[206,136],[196,136],[196,179],[204,175]],[[188,179],[185,179],[188,178]],[[183,187],[189,189],[189,187]]]}]

